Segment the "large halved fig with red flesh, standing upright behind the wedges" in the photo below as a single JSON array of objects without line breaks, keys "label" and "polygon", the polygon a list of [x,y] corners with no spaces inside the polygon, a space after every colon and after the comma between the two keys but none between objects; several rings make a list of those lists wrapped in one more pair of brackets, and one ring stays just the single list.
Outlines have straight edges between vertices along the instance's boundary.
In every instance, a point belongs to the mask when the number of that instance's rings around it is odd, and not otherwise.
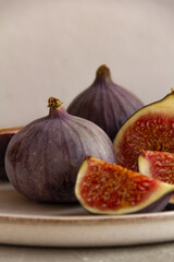
[{"label": "large halved fig with red flesh, standing upright behind the wedges", "polygon": [[137,170],[138,155],[145,151],[174,152],[174,92],[136,111],[113,141],[116,164]]}]

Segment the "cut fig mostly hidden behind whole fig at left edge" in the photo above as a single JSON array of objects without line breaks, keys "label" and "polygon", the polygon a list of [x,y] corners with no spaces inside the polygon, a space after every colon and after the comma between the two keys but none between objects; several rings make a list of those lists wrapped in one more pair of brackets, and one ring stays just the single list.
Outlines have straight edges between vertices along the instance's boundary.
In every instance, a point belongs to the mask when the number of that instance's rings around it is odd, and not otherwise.
[{"label": "cut fig mostly hidden behind whole fig at left edge", "polygon": [[4,154],[11,138],[18,132],[22,127],[0,129],[0,178],[8,179],[4,169]]}]

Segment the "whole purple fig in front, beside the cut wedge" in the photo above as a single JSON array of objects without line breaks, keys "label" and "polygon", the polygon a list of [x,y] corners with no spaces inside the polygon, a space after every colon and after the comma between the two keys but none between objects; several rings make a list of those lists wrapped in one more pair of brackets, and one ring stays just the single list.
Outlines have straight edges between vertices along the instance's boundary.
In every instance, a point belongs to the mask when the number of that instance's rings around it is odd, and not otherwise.
[{"label": "whole purple fig in front, beside the cut wedge", "polygon": [[87,155],[115,162],[113,144],[97,124],[71,116],[50,97],[49,115],[34,120],[10,141],[5,170],[13,187],[42,202],[76,202],[74,184]]}]

